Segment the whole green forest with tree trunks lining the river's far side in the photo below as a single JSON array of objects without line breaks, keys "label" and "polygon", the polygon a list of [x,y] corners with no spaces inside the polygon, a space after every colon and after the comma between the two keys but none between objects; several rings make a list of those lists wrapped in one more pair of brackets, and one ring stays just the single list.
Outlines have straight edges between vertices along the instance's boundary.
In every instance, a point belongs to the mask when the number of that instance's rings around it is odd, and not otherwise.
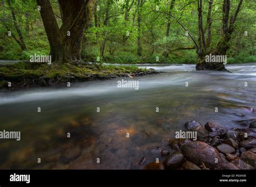
[{"label": "whole green forest with tree trunks lining the river's far side", "polygon": [[2,0],[0,17],[5,60],[64,61],[66,51],[89,62],[198,63],[210,53],[255,62],[252,0]]}]

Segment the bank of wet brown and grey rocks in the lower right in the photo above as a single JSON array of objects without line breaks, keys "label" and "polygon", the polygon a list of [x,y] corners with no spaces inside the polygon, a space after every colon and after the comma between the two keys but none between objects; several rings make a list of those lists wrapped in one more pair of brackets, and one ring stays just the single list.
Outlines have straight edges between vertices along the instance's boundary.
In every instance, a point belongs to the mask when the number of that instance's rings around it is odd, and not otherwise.
[{"label": "bank of wet brown and grey rocks in the lower right", "polygon": [[188,121],[186,132],[196,132],[197,141],[191,137],[164,139],[171,149],[149,147],[158,158],[145,165],[147,158],[142,157],[135,163],[141,169],[256,169],[256,119],[235,123],[241,128],[227,130],[212,122],[203,126],[197,121]]}]

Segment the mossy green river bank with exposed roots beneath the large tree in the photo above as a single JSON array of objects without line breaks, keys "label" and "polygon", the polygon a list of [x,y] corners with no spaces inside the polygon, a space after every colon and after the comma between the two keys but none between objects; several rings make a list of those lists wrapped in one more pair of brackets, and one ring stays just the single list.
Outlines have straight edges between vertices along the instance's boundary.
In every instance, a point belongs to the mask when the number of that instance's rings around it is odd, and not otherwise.
[{"label": "mossy green river bank with exposed roots beneath the large tree", "polygon": [[136,77],[158,74],[154,69],[136,66],[102,66],[96,63],[42,64],[15,62],[0,64],[0,89],[29,89],[32,87],[70,87],[71,83],[108,80],[116,77]]}]

